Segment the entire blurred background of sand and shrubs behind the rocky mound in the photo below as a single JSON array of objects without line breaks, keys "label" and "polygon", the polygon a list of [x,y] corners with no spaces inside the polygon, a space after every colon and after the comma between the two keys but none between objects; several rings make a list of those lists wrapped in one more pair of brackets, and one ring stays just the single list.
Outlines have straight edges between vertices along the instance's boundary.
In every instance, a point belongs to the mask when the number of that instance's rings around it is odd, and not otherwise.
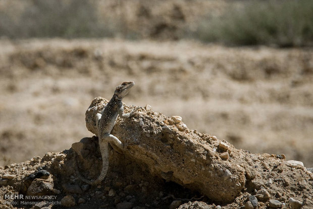
[{"label": "entire blurred background of sand and shrubs behind the rocky mound", "polygon": [[313,1],[0,0],[0,166],[92,136],[127,105],[313,167]]}]

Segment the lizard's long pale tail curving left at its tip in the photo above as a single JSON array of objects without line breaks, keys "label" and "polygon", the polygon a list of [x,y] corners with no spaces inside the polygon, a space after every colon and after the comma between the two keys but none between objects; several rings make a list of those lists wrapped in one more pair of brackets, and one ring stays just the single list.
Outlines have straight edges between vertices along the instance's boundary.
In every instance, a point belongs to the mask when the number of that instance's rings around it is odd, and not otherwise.
[{"label": "lizard's long pale tail curving left at its tip", "polygon": [[[99,139],[100,140],[100,139]],[[109,144],[108,143],[101,143],[99,141],[99,147],[100,147],[100,152],[101,152],[101,156],[102,156],[102,169],[101,169],[101,173],[99,175],[99,177],[96,180],[87,180],[84,177],[82,177],[78,171],[78,167],[76,166],[76,175],[78,176],[78,178],[90,185],[97,185],[99,184],[103,179],[106,178],[106,175],[108,173],[108,169],[109,169]]]}]

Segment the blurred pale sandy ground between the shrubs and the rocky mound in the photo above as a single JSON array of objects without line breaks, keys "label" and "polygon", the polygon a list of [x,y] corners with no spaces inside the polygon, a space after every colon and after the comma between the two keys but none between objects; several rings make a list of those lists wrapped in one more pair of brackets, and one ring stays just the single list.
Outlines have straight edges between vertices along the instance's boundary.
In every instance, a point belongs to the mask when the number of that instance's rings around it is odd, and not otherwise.
[{"label": "blurred pale sandy ground between the shrubs and the rocky mound", "polygon": [[125,80],[127,105],[182,116],[237,148],[313,167],[313,50],[198,42],[0,41],[0,165],[62,151],[84,114]]}]

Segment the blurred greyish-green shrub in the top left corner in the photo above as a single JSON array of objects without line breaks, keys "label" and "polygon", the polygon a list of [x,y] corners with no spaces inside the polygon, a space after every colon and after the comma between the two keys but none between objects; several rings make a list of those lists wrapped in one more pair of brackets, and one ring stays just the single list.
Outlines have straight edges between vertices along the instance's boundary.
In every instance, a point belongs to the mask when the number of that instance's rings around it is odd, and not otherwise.
[{"label": "blurred greyish-green shrub in the top left corner", "polygon": [[99,21],[93,1],[33,0],[14,20],[0,12],[0,36],[28,37],[105,37],[114,34],[114,22]]}]

